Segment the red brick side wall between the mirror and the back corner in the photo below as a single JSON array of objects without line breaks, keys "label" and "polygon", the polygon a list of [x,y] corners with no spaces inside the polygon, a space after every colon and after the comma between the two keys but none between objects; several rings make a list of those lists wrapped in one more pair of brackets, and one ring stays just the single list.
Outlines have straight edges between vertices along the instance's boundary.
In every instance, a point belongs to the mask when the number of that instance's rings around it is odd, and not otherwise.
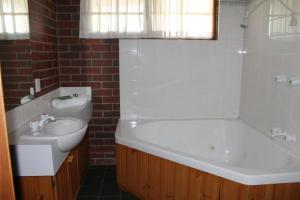
[{"label": "red brick side wall between the mirror and the back corner", "polygon": [[59,87],[55,0],[28,0],[32,73],[44,94]]}]

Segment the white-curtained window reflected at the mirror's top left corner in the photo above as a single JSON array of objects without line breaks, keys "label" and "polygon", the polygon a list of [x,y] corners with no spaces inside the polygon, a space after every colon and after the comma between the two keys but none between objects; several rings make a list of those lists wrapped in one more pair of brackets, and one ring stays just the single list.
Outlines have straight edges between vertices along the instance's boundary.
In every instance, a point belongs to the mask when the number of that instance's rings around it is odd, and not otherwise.
[{"label": "white-curtained window reflected at the mirror's top left corner", "polygon": [[0,0],[0,39],[29,38],[27,0]]}]

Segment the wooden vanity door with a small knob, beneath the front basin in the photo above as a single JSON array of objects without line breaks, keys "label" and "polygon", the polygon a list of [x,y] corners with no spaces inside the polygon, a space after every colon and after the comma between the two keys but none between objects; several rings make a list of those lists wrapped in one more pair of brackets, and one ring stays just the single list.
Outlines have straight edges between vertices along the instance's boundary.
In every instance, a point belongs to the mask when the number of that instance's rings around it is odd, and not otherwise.
[{"label": "wooden vanity door with a small knob, beneath the front basin", "polygon": [[75,199],[80,189],[78,171],[78,149],[71,151],[67,158],[70,199]]}]

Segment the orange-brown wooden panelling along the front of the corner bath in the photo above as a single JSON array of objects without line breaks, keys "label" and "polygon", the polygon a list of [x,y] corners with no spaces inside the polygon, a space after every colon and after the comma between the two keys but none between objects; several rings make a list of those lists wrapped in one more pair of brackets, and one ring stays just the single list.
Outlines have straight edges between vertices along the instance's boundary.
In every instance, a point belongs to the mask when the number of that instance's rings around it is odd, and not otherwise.
[{"label": "orange-brown wooden panelling along the front of the corner bath", "polygon": [[144,200],[300,200],[300,183],[249,186],[120,144],[119,186]]}]

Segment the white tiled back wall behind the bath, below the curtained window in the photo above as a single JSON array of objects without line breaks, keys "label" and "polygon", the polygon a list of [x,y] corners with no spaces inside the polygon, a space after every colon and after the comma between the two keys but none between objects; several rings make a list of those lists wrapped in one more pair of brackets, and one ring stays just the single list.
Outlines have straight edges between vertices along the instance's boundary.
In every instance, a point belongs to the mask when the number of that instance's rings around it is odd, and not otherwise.
[{"label": "white tiled back wall behind the bath, below the curtained window", "polygon": [[120,40],[121,118],[238,117],[243,13],[221,4],[217,41]]}]

